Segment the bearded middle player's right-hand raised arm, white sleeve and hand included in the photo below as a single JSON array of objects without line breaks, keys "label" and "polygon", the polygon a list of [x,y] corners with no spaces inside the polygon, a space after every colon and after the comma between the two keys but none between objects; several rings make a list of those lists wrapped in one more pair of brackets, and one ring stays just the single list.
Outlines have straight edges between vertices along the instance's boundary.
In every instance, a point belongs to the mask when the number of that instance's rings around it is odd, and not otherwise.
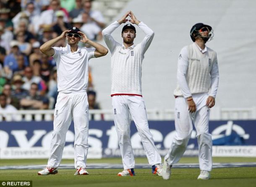
[{"label": "bearded middle player's right-hand raised arm, white sleeve and hand included", "polygon": [[131,17],[131,20],[129,21],[136,24],[146,35],[141,42],[141,52],[142,55],[144,55],[154,38],[154,31],[152,31],[152,29],[150,29],[145,23],[138,21],[133,12],[130,12],[129,16]]}]

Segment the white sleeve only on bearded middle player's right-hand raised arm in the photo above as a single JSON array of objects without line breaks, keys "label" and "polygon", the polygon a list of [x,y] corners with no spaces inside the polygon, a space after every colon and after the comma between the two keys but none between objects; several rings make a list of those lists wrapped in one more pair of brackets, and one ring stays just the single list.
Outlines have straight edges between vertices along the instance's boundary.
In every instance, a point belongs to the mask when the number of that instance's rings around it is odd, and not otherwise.
[{"label": "white sleeve only on bearded middle player's right-hand raised arm", "polygon": [[145,23],[140,22],[138,24],[138,27],[146,34],[144,39],[141,42],[141,53],[142,55],[145,54],[146,50],[149,48],[149,45],[151,44],[153,38],[154,38],[154,31],[150,29]]}]

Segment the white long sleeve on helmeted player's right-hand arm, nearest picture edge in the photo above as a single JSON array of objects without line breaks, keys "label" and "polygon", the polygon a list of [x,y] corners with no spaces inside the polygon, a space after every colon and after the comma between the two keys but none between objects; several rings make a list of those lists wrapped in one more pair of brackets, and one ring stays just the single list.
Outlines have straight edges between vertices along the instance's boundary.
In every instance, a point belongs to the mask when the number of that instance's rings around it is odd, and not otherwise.
[{"label": "white long sleeve on helmeted player's right-hand arm, nearest picture edge", "polygon": [[214,63],[212,65],[212,70],[210,71],[210,75],[211,75],[212,83],[211,83],[211,91],[209,95],[215,98],[218,87],[219,87],[219,68],[218,68],[218,60],[217,60],[216,54],[214,57]]}]

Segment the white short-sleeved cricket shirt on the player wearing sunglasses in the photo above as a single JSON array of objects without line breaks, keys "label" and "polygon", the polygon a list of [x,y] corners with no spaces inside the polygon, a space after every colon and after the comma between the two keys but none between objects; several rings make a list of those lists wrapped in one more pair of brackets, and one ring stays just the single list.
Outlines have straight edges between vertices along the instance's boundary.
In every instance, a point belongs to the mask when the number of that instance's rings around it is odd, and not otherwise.
[{"label": "white short-sleeved cricket shirt on the player wearing sunglasses", "polygon": [[70,45],[52,47],[57,65],[58,92],[76,94],[86,92],[88,86],[88,61],[94,57],[95,49],[79,47],[71,52]]}]

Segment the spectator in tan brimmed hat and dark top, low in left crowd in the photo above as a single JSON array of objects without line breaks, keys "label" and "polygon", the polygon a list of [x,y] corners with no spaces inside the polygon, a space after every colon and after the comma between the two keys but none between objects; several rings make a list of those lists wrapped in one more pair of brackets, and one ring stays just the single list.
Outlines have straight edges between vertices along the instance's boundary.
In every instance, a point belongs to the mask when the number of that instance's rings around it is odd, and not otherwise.
[{"label": "spectator in tan brimmed hat and dark top, low in left crowd", "polygon": [[12,79],[12,84],[13,84],[14,90],[11,92],[11,97],[13,98],[13,101],[18,101],[18,104],[15,104],[14,106],[17,109],[20,109],[19,101],[25,98],[26,96],[28,96],[29,92],[22,88],[24,81],[22,80],[21,75],[18,75],[18,74],[14,75]]}]

